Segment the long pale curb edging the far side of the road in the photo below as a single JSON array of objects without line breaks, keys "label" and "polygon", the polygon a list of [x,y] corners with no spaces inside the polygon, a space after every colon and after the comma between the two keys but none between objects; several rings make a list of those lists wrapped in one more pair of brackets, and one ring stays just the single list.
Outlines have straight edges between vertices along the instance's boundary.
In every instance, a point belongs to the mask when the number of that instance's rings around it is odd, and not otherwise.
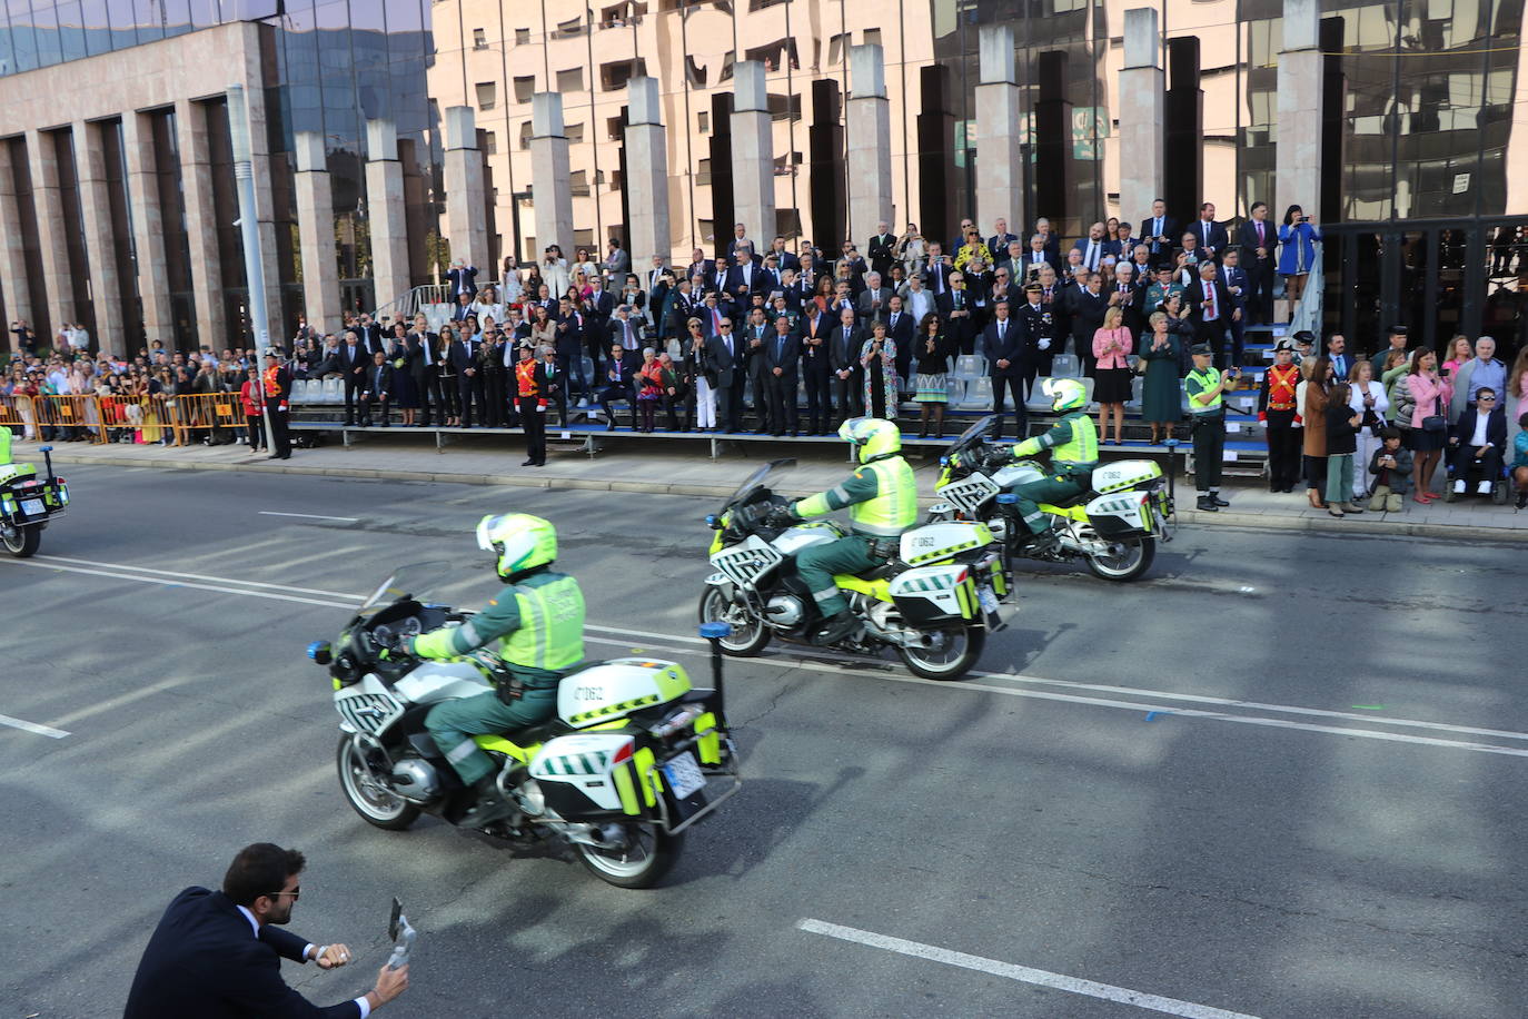
[{"label": "long pale curb edging the far side of the road", "polygon": [[[520,474],[437,474],[429,471],[384,471],[377,467],[304,467],[301,464],[208,463],[208,461],[144,461],[133,457],[70,457],[55,454],[53,463],[107,467],[157,467],[162,471],[249,471],[254,474],[296,474],[329,478],[365,478],[371,481],[435,481],[442,484],[501,484],[521,489],[582,489],[590,492],[631,492],[640,495],[692,495],[726,498],[736,490],[732,484],[663,484],[659,481],[601,481],[596,478],[559,478],[553,475]],[[799,495],[810,495],[801,490]],[[934,500],[920,498],[927,506]],[[1195,527],[1242,527],[1248,530],[1291,530],[1331,535],[1441,538],[1449,541],[1528,542],[1528,529],[1471,527],[1468,524],[1412,524],[1380,519],[1314,519],[1309,516],[1276,516],[1271,513],[1238,513],[1235,510],[1178,510],[1178,524]]]}]

